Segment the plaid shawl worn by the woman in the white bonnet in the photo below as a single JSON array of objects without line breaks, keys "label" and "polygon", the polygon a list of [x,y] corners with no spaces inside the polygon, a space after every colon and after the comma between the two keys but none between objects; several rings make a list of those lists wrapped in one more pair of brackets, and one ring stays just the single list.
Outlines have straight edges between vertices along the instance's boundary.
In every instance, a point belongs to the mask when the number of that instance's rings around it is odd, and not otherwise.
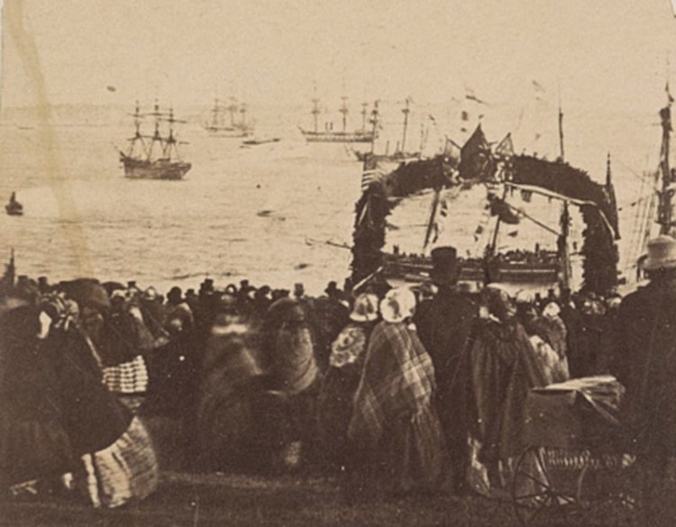
[{"label": "plaid shawl worn by the woman in the white bonnet", "polygon": [[429,405],[434,387],[432,359],[416,331],[405,323],[379,323],[354,395],[351,441],[375,446],[388,423],[412,418]]}]

